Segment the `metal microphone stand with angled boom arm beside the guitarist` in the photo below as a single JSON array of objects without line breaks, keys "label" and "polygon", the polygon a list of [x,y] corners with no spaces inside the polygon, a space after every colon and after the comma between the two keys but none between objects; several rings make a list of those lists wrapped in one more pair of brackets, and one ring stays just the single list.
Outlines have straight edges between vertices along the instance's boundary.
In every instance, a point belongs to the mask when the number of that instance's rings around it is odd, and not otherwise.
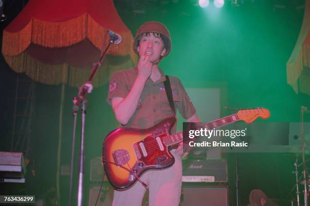
[{"label": "metal microphone stand with angled boom arm beside the guitarist", "polygon": [[[108,31],[107,31],[108,32]],[[104,39],[105,42],[105,39]],[[84,184],[84,168],[85,168],[85,117],[86,117],[86,106],[87,106],[87,93],[91,93],[93,86],[92,81],[95,76],[96,71],[101,65],[103,58],[106,55],[107,50],[109,49],[110,45],[114,43],[114,39],[110,38],[109,44],[107,45],[104,52],[101,53],[100,59],[98,62],[93,64],[92,73],[87,82],[85,82],[79,89],[78,96],[73,97],[73,138],[72,138],[72,152],[71,152],[71,170],[70,170],[70,191],[69,191],[69,206],[71,205],[71,196],[72,196],[72,176],[73,176],[73,157],[74,157],[74,142],[75,142],[75,128],[76,128],[76,115],[80,106],[82,105],[81,110],[81,148],[80,148],[80,155],[79,155],[79,182],[78,182],[78,206],[82,206],[83,204],[83,184]]]}]

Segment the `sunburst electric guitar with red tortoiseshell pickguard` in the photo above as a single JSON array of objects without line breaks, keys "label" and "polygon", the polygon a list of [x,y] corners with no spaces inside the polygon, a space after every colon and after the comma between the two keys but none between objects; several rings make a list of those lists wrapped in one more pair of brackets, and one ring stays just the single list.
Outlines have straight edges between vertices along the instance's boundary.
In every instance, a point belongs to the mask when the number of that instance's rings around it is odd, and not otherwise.
[{"label": "sunburst electric guitar with red tortoiseshell pickguard", "polygon": [[[270,116],[267,109],[239,110],[237,114],[203,124],[197,128],[215,129],[240,120],[252,123]],[[164,169],[174,163],[169,147],[184,140],[183,132],[170,134],[175,118],[166,118],[148,129],[118,128],[111,131],[102,145],[102,164],[115,190],[126,190],[150,169]],[[188,138],[187,138],[188,139]]]}]

